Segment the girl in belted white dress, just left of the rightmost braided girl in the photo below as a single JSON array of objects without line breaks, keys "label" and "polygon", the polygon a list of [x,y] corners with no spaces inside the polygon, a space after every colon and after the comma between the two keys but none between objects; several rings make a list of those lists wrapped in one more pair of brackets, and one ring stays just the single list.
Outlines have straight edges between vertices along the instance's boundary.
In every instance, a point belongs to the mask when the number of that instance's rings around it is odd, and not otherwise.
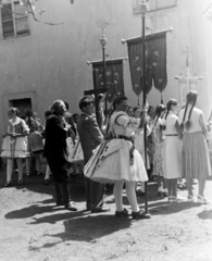
[{"label": "girl in belted white dress, just left of the rightmost braided girl", "polygon": [[177,178],[182,177],[182,141],[183,133],[178,116],[179,104],[171,99],[166,104],[165,141],[164,141],[164,178],[167,186],[169,201],[179,201],[177,197]]}]

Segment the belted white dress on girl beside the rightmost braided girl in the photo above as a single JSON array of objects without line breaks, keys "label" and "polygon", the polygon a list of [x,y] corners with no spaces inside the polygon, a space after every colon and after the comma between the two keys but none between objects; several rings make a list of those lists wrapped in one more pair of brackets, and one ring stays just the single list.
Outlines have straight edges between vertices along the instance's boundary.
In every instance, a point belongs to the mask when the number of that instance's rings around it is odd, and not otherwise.
[{"label": "belted white dress on girl beside the rightmost braided girl", "polygon": [[164,178],[182,177],[182,141],[175,128],[178,120],[172,111],[165,121],[165,141],[164,141]]}]

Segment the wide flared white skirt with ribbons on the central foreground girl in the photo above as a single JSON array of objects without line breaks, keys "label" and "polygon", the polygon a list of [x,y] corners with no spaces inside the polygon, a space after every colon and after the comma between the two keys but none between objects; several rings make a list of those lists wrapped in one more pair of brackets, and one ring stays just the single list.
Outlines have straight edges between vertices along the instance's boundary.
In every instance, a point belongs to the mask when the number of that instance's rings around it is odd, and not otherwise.
[{"label": "wide flared white skirt with ribbons on the central foreground girl", "polygon": [[102,142],[86,164],[85,176],[100,183],[147,182],[145,164],[137,150],[134,150],[134,163],[130,164],[132,146],[130,141],[124,139]]}]

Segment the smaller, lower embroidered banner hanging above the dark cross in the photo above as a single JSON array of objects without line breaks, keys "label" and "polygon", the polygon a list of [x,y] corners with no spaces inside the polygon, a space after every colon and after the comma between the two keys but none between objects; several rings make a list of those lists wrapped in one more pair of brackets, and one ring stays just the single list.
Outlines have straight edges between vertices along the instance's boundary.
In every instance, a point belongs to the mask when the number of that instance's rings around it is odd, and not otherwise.
[{"label": "smaller, lower embroidered banner hanging above the dark cross", "polygon": [[[92,63],[92,70],[98,70],[97,73],[97,88],[104,88],[103,85],[103,63]],[[109,88],[107,94],[107,100],[112,102],[117,96],[124,96],[124,73],[123,73],[123,60],[110,60],[105,61],[105,87]]]}]

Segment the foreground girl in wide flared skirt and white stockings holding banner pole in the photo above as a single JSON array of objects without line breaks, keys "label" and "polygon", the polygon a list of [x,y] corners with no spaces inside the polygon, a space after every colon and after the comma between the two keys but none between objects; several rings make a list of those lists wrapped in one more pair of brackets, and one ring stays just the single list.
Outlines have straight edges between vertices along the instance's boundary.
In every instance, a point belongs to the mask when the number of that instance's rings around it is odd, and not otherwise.
[{"label": "foreground girl in wide flared skirt and white stockings holding banner pole", "polygon": [[128,216],[122,201],[122,190],[126,184],[126,195],[132,207],[133,219],[144,219],[135,192],[137,182],[148,181],[147,172],[140,153],[135,149],[132,124],[140,125],[140,119],[132,120],[127,114],[126,97],[114,101],[115,112],[111,115],[108,126],[108,140],[101,144],[84,170],[86,177],[100,183],[114,183],[116,204],[115,216]]}]

